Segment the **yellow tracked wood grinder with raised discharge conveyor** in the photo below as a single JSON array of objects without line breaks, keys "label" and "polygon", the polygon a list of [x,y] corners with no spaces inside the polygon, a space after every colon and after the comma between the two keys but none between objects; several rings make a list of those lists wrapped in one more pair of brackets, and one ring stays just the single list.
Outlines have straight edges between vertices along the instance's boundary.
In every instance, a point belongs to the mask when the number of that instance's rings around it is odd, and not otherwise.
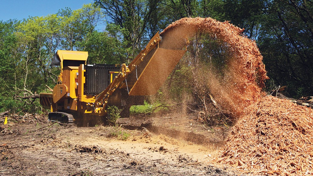
[{"label": "yellow tracked wood grinder with raised discharge conveyor", "polygon": [[107,105],[128,109],[129,115],[131,105],[157,92],[186,52],[159,48],[161,39],[156,33],[130,65],[121,67],[86,65],[88,52],[58,50],[52,60],[61,67],[58,83],[52,93],[40,93],[40,103],[60,118],[74,113],[105,116]]}]

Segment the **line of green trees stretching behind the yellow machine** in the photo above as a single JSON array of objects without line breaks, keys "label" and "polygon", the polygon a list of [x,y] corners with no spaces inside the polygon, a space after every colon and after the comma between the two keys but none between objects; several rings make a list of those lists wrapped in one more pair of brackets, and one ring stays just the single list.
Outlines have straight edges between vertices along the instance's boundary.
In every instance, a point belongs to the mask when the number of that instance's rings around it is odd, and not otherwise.
[{"label": "line of green trees stretching behind the yellow machine", "polygon": [[[310,96],[312,8],[311,0],[94,0],[78,10],[1,21],[0,111],[40,111],[38,101],[16,99],[55,85],[59,68],[50,63],[56,50],[88,51],[90,64],[130,63],[157,31],[184,17],[211,17],[244,28],[263,55],[268,88],[287,85],[287,96]],[[105,30],[96,30],[99,25]],[[184,70],[178,65],[176,76],[187,75]]]}]

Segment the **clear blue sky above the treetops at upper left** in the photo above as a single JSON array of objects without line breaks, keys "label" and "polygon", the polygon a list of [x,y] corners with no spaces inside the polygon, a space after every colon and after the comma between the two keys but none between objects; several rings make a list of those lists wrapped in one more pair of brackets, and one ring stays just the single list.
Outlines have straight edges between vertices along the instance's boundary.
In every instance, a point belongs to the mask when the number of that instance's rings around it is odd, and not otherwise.
[{"label": "clear blue sky above the treetops at upper left", "polygon": [[93,0],[0,0],[0,21],[46,16],[57,13],[59,9],[65,7],[76,10],[82,8],[83,4],[93,2]]}]

